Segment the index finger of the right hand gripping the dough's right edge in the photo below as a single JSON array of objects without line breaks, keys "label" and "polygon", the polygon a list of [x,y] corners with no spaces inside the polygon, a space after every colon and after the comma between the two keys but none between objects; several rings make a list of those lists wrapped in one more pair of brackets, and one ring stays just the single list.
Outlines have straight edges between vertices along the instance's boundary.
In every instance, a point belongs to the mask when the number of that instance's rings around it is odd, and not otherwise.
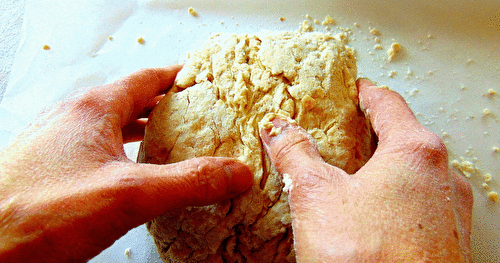
[{"label": "index finger of the right hand gripping the dough's right edge", "polygon": [[[371,81],[360,79],[360,106],[370,118],[379,139],[379,148],[387,144],[405,144],[407,140],[422,138],[430,131],[425,129],[398,93],[388,88],[377,87]],[[425,134],[422,134],[425,133]]]}]

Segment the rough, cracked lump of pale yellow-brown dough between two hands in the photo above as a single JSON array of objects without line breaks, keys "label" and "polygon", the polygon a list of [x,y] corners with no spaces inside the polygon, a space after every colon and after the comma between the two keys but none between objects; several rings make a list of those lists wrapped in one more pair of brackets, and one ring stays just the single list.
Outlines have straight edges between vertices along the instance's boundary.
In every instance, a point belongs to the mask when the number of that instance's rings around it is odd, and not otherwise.
[{"label": "rough, cracked lump of pale yellow-brown dough between two hands", "polygon": [[373,138],[345,40],[317,32],[219,34],[190,57],[150,117],[140,161],[235,157],[252,168],[254,185],[232,200],[149,222],[164,261],[295,261],[288,192],[262,148],[259,122],[265,125],[266,114],[290,117],[325,161],[359,169]]}]

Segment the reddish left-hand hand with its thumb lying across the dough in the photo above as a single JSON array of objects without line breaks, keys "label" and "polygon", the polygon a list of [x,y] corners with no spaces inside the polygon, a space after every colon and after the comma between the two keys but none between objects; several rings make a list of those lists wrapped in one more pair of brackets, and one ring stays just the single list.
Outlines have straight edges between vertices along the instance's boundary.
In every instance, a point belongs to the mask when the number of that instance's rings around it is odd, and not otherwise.
[{"label": "reddish left-hand hand with its thumb lying across the dough", "polygon": [[180,69],[146,69],[74,93],[0,152],[0,262],[86,261],[168,210],[250,187],[250,169],[234,159],[153,165],[126,157],[123,144],[143,138],[142,117]]}]

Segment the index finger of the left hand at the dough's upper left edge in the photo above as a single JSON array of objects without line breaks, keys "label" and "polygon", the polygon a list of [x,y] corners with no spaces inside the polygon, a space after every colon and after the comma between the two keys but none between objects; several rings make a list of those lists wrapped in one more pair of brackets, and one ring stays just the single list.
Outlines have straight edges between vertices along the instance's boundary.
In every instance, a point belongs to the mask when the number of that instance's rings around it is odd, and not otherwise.
[{"label": "index finger of the left hand at the dough's upper left edge", "polygon": [[154,98],[165,93],[175,80],[181,65],[140,70],[111,84],[111,111],[121,115],[121,127],[137,119]]}]

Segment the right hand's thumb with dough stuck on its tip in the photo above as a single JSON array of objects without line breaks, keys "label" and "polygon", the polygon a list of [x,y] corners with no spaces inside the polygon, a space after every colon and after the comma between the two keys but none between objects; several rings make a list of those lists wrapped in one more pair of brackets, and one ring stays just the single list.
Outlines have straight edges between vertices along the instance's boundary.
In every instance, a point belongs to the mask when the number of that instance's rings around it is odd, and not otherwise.
[{"label": "right hand's thumb with dough stuck on its tip", "polygon": [[[292,180],[305,174],[327,174],[319,170],[329,165],[323,161],[314,139],[304,129],[280,118],[273,119],[272,124],[274,128],[261,129],[260,136],[267,155],[279,173],[289,174]],[[275,134],[273,129],[279,132]],[[335,167],[331,169],[343,172]]]}]

